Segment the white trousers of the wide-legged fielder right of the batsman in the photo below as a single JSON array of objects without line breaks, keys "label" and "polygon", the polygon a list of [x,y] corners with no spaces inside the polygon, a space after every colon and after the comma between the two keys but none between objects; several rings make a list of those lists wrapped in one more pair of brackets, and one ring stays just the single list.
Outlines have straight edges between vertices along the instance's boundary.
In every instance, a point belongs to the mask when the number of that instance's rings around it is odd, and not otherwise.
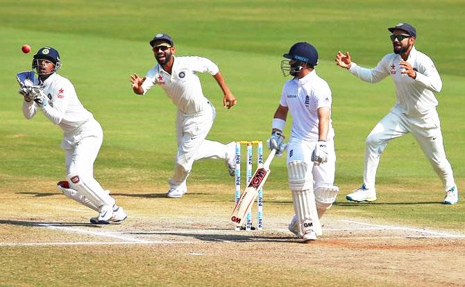
[{"label": "white trousers of the wide-legged fielder right of the batsman", "polygon": [[439,175],[443,188],[447,191],[455,186],[452,167],[446,157],[437,112],[423,117],[406,116],[398,107],[393,107],[387,116],[375,125],[366,137],[364,184],[367,189],[375,187],[375,176],[380,156],[391,139],[411,132],[423,153]]}]

